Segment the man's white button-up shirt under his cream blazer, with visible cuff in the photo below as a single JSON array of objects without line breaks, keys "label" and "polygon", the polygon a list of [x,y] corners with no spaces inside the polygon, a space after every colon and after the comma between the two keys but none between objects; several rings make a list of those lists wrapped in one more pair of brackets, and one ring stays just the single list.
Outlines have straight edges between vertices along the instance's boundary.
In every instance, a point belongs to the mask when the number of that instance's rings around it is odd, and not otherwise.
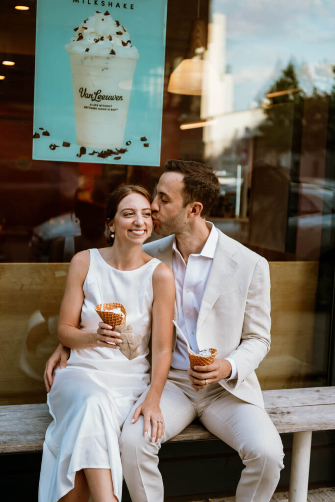
[{"label": "man's white button-up shirt under his cream blazer, with visible cuff", "polygon": [[[196,341],[196,323],[218,240],[217,229],[210,221],[206,223],[208,227],[211,227],[208,238],[201,253],[188,257],[187,265],[179,252],[176,238],[172,245],[172,268],[176,285],[178,326],[185,334],[191,349],[196,353],[199,352]],[[202,348],[207,347],[200,347],[200,349]],[[232,374],[227,380],[233,380],[237,378],[236,363],[231,357],[226,357],[226,359],[232,365]],[[178,332],[171,366],[176,369],[189,368],[187,345],[183,336]]]}]

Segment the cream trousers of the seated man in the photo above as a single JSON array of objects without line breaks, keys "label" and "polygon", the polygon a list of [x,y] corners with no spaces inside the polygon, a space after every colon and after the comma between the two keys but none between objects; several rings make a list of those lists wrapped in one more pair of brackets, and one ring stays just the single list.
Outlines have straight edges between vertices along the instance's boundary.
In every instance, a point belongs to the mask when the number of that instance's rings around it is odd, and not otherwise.
[{"label": "cream trousers of the seated man", "polygon": [[[245,468],[236,491],[236,502],[269,502],[283,468],[280,436],[265,410],[241,401],[219,384],[196,392],[186,370],[171,369],[161,398],[163,440],[181,432],[194,418],[240,455]],[[120,439],[125,480],[132,502],[163,502],[163,482],[158,470],[159,445],[143,436],[143,417],[132,424],[129,414]],[[222,485],[224,485],[222,480]]]}]

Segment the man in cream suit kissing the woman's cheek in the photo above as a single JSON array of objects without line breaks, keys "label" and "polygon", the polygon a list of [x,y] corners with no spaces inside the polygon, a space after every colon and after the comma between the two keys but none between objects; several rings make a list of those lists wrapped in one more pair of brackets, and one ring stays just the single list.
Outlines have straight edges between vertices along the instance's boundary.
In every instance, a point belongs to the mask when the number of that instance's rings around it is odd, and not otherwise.
[{"label": "man in cream suit kissing the woman's cheek", "polygon": [[[255,374],[270,348],[269,266],[205,220],[219,193],[211,168],[172,160],[164,170],[152,213],[156,233],[168,236],[146,244],[144,250],[174,272],[175,320],[190,347],[195,352],[214,347],[217,355],[212,364],[190,369],[186,341],[177,333],[160,403],[162,441],[197,417],[237,450],[245,465],[237,502],[269,502],[283,467],[281,440],[264,410]],[[51,356],[49,382],[55,364],[65,364],[67,356],[59,351]],[[135,413],[143,399],[122,430],[124,476],[133,502],[163,502],[160,443],[151,437],[146,410],[144,416]]]}]

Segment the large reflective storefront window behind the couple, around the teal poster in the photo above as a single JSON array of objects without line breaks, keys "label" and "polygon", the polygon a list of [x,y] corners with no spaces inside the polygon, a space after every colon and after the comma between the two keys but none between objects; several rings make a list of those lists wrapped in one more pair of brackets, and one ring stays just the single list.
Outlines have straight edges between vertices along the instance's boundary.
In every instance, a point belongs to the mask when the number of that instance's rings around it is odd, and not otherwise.
[{"label": "large reflective storefront window behind the couple, around the teal poster", "polygon": [[6,3],[0,37],[1,404],[45,401],[67,263],[104,245],[107,195],[129,183],[154,194],[170,158],[214,168],[210,219],[270,262],[262,388],[329,383],[335,6],[169,0],[161,160],[139,166],[32,160],[36,2],[25,5]]}]

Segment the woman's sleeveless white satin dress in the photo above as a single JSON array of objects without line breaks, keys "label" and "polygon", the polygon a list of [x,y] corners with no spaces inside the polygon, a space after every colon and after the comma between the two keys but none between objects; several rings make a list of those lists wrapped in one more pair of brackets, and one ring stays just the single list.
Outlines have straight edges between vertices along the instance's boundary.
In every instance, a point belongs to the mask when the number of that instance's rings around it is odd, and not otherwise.
[{"label": "woman's sleeveless white satin dress", "polygon": [[126,325],[142,336],[140,355],[130,361],[119,349],[71,350],[66,368],[55,370],[47,398],[53,421],[43,446],[39,502],[59,500],[74,487],[76,471],[86,467],[110,468],[121,501],[120,432],[150,382],[152,275],[160,261],[153,258],[136,270],[123,271],[110,267],[97,249],[89,251],[79,328],[96,331],[98,327],[94,307],[101,303],[99,286],[104,302],[126,307]]}]

